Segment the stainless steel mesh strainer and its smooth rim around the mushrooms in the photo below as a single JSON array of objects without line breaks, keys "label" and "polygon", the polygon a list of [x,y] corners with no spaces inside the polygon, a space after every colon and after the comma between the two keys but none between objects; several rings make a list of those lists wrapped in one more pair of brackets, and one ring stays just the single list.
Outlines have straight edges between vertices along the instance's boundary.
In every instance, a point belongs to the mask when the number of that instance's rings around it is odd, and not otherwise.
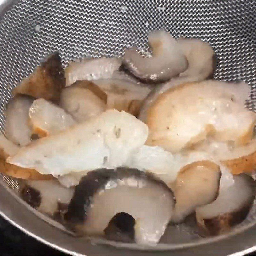
[{"label": "stainless steel mesh strainer and its smooth rim around the mushrooms", "polygon": [[[120,56],[133,44],[145,52],[148,32],[159,28],[175,37],[210,42],[219,59],[215,78],[251,84],[247,106],[256,110],[255,8],[254,0],[0,0],[0,130],[11,89],[48,53],[59,50],[66,66],[84,55]],[[229,235],[203,239],[187,227],[172,227],[172,239],[154,248],[77,239],[21,202],[15,193],[17,180],[3,180],[0,214],[36,239],[73,255],[170,255],[170,250],[173,255],[243,255],[256,250],[254,211]]]}]

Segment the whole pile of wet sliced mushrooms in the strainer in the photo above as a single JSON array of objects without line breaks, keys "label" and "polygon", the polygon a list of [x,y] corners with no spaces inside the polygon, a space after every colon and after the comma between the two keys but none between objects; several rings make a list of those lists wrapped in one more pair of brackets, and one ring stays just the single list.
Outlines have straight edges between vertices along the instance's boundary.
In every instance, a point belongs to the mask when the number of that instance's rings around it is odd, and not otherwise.
[{"label": "whole pile of wet sliced mushrooms in the strainer", "polygon": [[206,42],[153,31],[148,43],[148,58],[44,60],[13,90],[0,170],[77,235],[153,246],[190,214],[227,232],[255,195],[250,88],[205,80],[216,62]]}]

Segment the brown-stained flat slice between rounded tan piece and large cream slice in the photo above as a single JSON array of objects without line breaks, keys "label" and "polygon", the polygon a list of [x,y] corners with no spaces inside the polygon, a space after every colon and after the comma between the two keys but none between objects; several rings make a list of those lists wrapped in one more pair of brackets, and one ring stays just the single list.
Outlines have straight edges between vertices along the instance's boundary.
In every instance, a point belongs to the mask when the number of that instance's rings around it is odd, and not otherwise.
[{"label": "brown-stained flat slice between rounded tan piece and large cream slice", "polygon": [[93,81],[107,94],[107,108],[126,111],[137,116],[141,102],[151,91],[150,86],[120,79]]}]

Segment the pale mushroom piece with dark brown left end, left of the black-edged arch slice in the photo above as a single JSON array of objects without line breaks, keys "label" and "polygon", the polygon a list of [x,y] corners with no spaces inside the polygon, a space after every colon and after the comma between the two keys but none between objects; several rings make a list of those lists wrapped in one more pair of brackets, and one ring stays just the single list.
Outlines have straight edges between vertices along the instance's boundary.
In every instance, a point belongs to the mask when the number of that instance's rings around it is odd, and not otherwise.
[{"label": "pale mushroom piece with dark brown left end, left of the black-edged arch slice", "polygon": [[57,180],[27,180],[21,190],[21,197],[39,212],[53,215],[58,204],[69,204],[74,188],[64,188]]}]

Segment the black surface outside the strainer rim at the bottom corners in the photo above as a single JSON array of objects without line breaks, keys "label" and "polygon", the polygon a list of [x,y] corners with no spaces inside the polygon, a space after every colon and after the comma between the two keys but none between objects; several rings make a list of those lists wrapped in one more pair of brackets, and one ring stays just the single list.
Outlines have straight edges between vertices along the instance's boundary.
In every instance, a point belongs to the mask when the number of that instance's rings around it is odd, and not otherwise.
[{"label": "black surface outside the strainer rim at the bottom corners", "polygon": [[[52,255],[67,256],[44,245],[34,238],[27,236],[19,229],[12,226],[9,222],[0,217],[0,255]],[[250,256],[256,253],[250,254]],[[97,255],[95,255],[97,256]],[[196,256],[196,255],[194,255]],[[218,256],[218,255],[216,255]],[[249,256],[249,255],[248,255]]]}]

